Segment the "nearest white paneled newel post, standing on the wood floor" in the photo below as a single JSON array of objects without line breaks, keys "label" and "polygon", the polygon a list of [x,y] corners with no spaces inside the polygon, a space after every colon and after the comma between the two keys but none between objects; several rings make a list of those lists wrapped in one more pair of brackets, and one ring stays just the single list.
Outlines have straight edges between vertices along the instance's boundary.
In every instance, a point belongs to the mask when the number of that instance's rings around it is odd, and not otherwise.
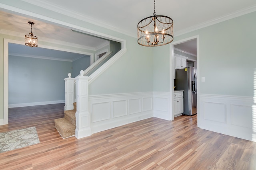
[{"label": "nearest white paneled newel post, standing on the wood floor", "polygon": [[76,78],[76,138],[92,135],[90,128],[90,113],[88,110],[88,81],[89,77],[84,76],[84,71],[80,71],[80,76]]}]

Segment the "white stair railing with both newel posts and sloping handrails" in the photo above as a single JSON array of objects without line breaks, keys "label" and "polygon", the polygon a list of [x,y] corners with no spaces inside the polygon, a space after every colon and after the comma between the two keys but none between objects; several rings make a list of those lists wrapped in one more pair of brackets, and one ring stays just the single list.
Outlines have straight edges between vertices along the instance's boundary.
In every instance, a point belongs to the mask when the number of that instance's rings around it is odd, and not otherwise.
[{"label": "white stair railing with both newel posts and sloping handrails", "polygon": [[[74,109],[73,103],[76,101],[76,138],[87,137],[92,135],[90,128],[90,113],[88,109],[88,86],[99,74],[106,70],[112,63],[120,58],[126,49],[121,49],[115,54],[115,58],[110,58],[112,52],[106,53],[94,64],[86,70],[81,70],[76,78],[71,78],[71,73],[68,73],[68,78],[65,78],[65,110]],[[106,61],[107,60],[107,61]],[[105,61],[105,64],[102,62]],[[98,69],[100,68],[100,69]],[[98,70],[97,70],[98,69]],[[85,76],[86,75],[86,76]]]}]

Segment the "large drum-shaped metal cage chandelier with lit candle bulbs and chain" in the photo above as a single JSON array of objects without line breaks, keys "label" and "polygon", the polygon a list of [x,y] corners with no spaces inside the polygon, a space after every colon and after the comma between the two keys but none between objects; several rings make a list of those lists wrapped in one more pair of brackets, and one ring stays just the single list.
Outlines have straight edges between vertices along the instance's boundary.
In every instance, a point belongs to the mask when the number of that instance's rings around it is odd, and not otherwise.
[{"label": "large drum-shaped metal cage chandelier with lit candle bulbs and chain", "polygon": [[144,18],[138,23],[138,44],[156,47],[173,41],[173,20],[167,16],[156,16],[154,0],[153,16]]}]

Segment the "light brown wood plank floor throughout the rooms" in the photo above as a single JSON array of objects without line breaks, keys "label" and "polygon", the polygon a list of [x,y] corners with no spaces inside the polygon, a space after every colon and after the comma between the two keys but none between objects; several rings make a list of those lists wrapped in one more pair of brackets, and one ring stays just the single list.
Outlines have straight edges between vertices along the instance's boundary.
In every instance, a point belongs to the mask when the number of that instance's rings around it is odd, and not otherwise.
[{"label": "light brown wood plank floor throughout the rooms", "polygon": [[54,119],[64,104],[12,108],[0,132],[35,126],[39,144],[0,153],[0,170],[254,170],[256,143],[199,129],[197,115],[150,118],[62,139]]}]

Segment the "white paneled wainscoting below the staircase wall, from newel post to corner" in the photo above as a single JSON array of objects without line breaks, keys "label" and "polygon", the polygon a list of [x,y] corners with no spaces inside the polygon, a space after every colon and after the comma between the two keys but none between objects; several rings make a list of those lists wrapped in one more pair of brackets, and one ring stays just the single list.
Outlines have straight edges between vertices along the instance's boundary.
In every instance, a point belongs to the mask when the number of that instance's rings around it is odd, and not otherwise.
[{"label": "white paneled wainscoting below the staircase wall, from newel post to corner", "polygon": [[89,96],[91,131],[97,133],[153,117],[153,92]]}]

